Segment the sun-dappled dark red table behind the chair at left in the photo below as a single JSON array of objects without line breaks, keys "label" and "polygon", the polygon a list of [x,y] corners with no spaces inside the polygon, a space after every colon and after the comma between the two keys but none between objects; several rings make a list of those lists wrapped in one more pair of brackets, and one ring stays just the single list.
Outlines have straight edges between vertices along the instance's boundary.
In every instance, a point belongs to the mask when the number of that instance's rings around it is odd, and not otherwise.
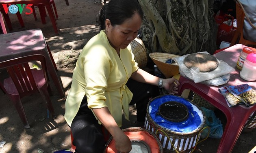
[{"label": "sun-dappled dark red table behind the chair at left", "polygon": [[61,79],[56,73],[41,29],[0,34],[0,62],[34,54],[46,57],[48,73],[61,98],[65,97]]}]

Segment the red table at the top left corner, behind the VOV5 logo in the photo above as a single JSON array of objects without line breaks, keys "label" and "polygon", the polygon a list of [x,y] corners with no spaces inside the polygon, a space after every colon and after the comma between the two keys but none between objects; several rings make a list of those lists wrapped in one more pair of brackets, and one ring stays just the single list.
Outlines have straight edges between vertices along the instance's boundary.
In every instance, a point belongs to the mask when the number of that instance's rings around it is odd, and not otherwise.
[{"label": "red table at the top left corner, behind the VOV5 logo", "polygon": [[[46,9],[48,11],[49,17],[52,22],[52,27],[54,29],[54,32],[56,33],[56,35],[58,35],[59,30],[57,28],[57,23],[53,14],[50,0],[0,0],[0,5],[2,4],[40,4],[40,3],[46,6]],[[26,9],[24,8],[23,13],[25,12],[26,12]]]}]

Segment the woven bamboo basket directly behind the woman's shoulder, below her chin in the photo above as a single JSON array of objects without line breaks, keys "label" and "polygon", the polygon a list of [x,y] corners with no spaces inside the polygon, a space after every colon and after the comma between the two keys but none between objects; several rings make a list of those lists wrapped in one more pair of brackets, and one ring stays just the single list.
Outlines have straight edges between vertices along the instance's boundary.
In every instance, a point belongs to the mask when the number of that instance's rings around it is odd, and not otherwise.
[{"label": "woven bamboo basket directly behind the woman's shoulder, below her chin", "polygon": [[130,43],[131,50],[134,55],[134,60],[138,63],[139,68],[145,68],[148,63],[146,47],[140,38],[135,38]]}]

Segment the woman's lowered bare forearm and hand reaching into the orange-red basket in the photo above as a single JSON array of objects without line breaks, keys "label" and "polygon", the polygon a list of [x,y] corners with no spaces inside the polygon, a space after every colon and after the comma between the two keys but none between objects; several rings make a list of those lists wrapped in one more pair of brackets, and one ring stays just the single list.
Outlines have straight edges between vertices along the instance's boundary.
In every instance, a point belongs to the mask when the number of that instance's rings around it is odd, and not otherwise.
[{"label": "woman's lowered bare forearm and hand reaching into the orange-red basket", "polygon": [[98,120],[104,125],[106,130],[113,136],[115,147],[121,153],[129,153],[132,150],[132,144],[128,136],[122,132],[115,122],[113,116],[107,107],[92,109]]}]

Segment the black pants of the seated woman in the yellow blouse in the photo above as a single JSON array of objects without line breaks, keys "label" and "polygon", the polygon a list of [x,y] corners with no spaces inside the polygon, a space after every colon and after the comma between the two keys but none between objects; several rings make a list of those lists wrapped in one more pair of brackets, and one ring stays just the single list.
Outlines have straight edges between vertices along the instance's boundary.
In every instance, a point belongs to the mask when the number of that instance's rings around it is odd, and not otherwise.
[{"label": "black pants of the seated woman in the yellow blouse", "polygon": [[[129,79],[126,85],[133,93],[130,104],[136,104],[137,121],[144,121],[149,99],[159,95],[158,87],[132,79]],[[82,100],[78,113],[72,121],[71,131],[77,153],[102,153],[104,151],[106,141],[102,133],[102,125],[98,124],[92,111],[87,107],[86,98]]]}]

